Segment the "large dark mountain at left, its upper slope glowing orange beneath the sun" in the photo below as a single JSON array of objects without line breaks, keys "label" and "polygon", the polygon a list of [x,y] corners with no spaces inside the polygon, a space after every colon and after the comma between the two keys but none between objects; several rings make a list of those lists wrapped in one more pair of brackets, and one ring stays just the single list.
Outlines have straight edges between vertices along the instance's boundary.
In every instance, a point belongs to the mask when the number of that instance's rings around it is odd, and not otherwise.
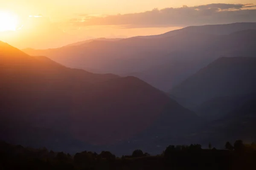
[{"label": "large dark mountain at left, its upper slope glowing orange beneath the sun", "polygon": [[[0,79],[0,137],[12,143],[86,149],[123,142],[153,126],[186,129],[198,119],[136,77],[67,68],[4,42]],[[166,122],[157,122],[163,116]]]}]

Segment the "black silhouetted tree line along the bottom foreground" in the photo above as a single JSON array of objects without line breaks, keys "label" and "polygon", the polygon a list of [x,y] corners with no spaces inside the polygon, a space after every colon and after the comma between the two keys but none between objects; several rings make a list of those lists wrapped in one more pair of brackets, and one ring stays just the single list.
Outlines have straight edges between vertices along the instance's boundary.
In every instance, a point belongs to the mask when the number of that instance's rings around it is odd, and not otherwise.
[{"label": "black silhouetted tree line along the bottom foreground", "polygon": [[82,151],[71,155],[54,152],[47,148],[33,149],[21,145],[0,142],[0,169],[26,170],[100,170],[100,169],[165,169],[169,167],[198,169],[213,168],[236,169],[254,166],[256,143],[244,144],[237,140],[234,144],[226,142],[225,149],[202,149],[200,144],[169,145],[163,153],[150,156],[142,150],[134,150],[131,155],[115,156],[109,151],[101,153]]}]

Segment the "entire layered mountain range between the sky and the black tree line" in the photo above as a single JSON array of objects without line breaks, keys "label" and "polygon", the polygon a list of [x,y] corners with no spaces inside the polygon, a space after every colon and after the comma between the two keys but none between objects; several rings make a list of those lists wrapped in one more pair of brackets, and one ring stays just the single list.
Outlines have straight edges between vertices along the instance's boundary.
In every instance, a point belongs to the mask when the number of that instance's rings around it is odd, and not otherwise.
[{"label": "entire layered mountain range between the sky and the black tree line", "polygon": [[118,154],[256,141],[255,25],[187,27],[48,50],[0,42],[0,139]]}]

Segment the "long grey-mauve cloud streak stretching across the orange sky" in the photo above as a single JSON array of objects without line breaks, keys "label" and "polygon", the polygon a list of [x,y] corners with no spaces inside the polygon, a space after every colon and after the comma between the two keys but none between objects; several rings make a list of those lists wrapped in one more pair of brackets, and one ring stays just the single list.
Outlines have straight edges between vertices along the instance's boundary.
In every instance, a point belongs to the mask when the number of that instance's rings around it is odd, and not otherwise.
[{"label": "long grey-mauve cloud streak stretching across the orange sky", "polygon": [[[154,8],[151,11],[108,16],[86,15],[79,20],[70,20],[74,26],[112,25],[122,28],[154,28],[256,22],[256,5],[215,3],[181,8]],[[81,16],[81,15],[80,15]]]}]

